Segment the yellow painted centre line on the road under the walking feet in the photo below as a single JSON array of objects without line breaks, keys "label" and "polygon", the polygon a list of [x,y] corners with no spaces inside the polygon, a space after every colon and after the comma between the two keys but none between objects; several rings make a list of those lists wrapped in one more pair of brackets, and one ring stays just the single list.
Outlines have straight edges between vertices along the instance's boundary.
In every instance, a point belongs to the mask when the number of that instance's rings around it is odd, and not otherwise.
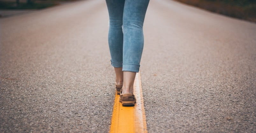
[{"label": "yellow painted centre line on the road under the walking feet", "polygon": [[110,133],[147,133],[140,72],[136,73],[133,93],[136,97],[133,107],[123,107],[119,102],[120,95],[116,94]]}]

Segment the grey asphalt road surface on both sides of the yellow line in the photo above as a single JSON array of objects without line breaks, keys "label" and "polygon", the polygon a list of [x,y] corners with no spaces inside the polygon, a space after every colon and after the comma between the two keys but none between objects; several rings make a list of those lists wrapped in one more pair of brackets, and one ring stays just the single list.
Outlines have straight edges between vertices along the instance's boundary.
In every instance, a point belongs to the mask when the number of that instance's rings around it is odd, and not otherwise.
[{"label": "grey asphalt road surface on both sides of the yellow line", "polygon": [[[0,132],[108,132],[105,1],[0,19]],[[256,132],[256,24],[151,0],[141,80],[149,132]]]}]

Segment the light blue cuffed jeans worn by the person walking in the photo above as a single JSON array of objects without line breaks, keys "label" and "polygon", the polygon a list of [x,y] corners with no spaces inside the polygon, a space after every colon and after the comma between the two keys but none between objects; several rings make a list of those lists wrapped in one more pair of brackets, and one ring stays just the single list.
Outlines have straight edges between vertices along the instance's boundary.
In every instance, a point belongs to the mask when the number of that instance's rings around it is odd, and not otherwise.
[{"label": "light blue cuffed jeans worn by the person walking", "polygon": [[144,46],[143,23],[149,0],[106,0],[111,65],[139,72]]}]

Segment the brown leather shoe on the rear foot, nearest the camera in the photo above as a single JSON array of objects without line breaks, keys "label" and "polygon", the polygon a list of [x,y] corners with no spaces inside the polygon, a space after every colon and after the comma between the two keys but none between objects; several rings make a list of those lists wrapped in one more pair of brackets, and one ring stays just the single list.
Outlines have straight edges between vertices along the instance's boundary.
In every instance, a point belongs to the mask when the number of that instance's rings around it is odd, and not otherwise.
[{"label": "brown leather shoe on the rear foot, nearest the camera", "polygon": [[123,106],[134,106],[136,98],[133,93],[120,94],[119,102],[122,102]]}]

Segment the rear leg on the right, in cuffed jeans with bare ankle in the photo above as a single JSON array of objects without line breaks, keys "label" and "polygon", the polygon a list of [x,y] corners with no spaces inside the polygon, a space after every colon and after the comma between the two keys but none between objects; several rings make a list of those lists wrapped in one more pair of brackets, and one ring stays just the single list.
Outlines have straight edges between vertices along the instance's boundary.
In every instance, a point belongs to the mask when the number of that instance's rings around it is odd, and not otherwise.
[{"label": "rear leg on the right, in cuffed jeans with bare ankle", "polygon": [[123,71],[122,94],[133,93],[136,72],[144,46],[143,23],[149,0],[125,0],[123,14]]}]

